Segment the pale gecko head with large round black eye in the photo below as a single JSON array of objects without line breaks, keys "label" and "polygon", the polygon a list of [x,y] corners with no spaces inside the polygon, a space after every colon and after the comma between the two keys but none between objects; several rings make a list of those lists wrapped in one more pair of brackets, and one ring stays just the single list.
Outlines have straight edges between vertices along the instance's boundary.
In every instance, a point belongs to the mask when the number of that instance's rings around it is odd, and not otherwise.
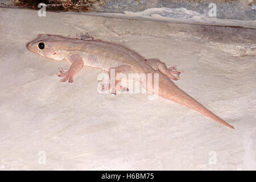
[{"label": "pale gecko head with large round black eye", "polygon": [[65,53],[61,51],[54,36],[41,34],[35,40],[26,44],[29,51],[40,56],[48,57],[54,60],[63,60]]}]

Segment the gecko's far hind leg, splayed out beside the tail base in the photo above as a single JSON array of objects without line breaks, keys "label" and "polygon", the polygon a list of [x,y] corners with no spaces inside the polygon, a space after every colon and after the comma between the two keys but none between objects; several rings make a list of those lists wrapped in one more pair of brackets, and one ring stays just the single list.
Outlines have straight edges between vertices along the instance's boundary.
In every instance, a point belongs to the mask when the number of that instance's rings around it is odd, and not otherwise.
[{"label": "gecko's far hind leg, splayed out beside the tail base", "polygon": [[[171,80],[180,80],[180,73],[183,71],[176,71],[176,65],[173,65],[170,68],[166,67],[166,64],[162,63],[159,59],[147,59],[147,64],[150,65],[156,71],[159,70],[161,73],[169,77]],[[176,76],[172,75],[175,74]]]}]

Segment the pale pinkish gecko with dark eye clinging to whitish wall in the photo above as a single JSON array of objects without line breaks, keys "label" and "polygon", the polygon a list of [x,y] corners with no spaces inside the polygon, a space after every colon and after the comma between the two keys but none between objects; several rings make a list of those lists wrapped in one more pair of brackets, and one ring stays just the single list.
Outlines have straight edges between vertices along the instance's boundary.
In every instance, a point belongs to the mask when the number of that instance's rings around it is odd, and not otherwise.
[{"label": "pale pinkish gecko with dark eye clinging to whitish wall", "polygon": [[[38,38],[27,43],[26,47],[29,51],[40,56],[53,60],[66,60],[71,64],[71,67],[66,71],[59,68],[59,73],[56,73],[57,76],[62,77],[62,82],[69,81],[72,83],[74,76],[84,66],[100,68],[102,71],[108,72],[109,77],[110,69],[114,69],[115,75],[118,73],[158,74],[158,94],[160,97],[187,106],[222,125],[228,126],[230,129],[234,129],[232,125],[217,117],[174,84],[172,80],[179,80],[179,75],[182,73],[182,71],[177,71],[176,65],[167,68],[166,64],[159,59],[145,59],[139,53],[125,46],[95,39],[88,33],[77,34],[76,38],[40,34]],[[114,85],[114,93],[120,89],[128,89],[118,87],[117,84],[120,81],[122,80],[119,77],[114,77],[114,83],[110,81],[111,85]],[[154,92],[147,85],[146,79],[140,79],[139,82],[141,82],[143,88],[151,93]],[[108,89],[110,88],[102,86],[102,90]]]}]

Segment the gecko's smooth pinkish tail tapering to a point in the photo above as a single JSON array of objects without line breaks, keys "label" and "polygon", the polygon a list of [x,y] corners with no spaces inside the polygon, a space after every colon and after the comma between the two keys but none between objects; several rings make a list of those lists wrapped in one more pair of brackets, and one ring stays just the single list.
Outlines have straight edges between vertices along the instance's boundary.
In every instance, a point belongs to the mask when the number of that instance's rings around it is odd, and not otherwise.
[{"label": "gecko's smooth pinkish tail tapering to a point", "polygon": [[217,117],[217,115],[213,114],[183,90],[180,90],[169,78],[161,73],[159,74],[159,96],[187,106],[190,109],[196,110],[214,121],[221,123],[222,125],[228,126],[230,129],[234,129],[232,125],[229,125],[229,123]]}]

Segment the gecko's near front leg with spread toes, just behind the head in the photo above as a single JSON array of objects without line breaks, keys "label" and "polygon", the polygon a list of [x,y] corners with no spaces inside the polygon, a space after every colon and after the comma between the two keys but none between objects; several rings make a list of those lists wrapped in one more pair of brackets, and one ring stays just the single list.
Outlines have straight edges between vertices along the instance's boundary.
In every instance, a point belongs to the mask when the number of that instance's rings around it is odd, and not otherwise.
[{"label": "gecko's near front leg with spread toes, just behind the head", "polygon": [[63,69],[60,68],[60,72],[56,73],[56,75],[59,77],[64,77],[60,81],[65,82],[68,80],[68,82],[72,83],[73,77],[84,66],[84,61],[82,61],[79,55],[68,56],[65,59],[72,64],[71,67],[67,71],[63,71]]}]

